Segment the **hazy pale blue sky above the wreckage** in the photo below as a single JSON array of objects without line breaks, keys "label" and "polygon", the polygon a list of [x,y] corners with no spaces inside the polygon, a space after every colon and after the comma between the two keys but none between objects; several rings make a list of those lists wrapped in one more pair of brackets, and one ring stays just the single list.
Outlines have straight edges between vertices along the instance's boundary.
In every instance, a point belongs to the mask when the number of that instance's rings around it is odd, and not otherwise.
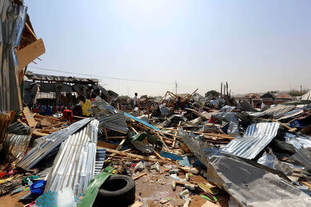
[{"label": "hazy pale blue sky above the wreckage", "polygon": [[220,90],[221,81],[234,94],[311,88],[308,0],[24,4],[46,46],[30,67],[96,75],[122,95],[164,95],[175,81],[178,93]]}]

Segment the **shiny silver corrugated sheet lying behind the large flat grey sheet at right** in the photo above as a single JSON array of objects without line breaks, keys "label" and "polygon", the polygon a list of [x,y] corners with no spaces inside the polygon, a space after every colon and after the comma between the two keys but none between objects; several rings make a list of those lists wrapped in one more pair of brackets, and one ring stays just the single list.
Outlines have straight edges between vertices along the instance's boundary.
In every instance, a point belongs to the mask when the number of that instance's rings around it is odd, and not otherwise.
[{"label": "shiny silver corrugated sheet lying behind the large flat grey sheet at right", "polygon": [[279,126],[276,122],[249,125],[242,138],[230,141],[221,152],[253,159],[276,136]]}]

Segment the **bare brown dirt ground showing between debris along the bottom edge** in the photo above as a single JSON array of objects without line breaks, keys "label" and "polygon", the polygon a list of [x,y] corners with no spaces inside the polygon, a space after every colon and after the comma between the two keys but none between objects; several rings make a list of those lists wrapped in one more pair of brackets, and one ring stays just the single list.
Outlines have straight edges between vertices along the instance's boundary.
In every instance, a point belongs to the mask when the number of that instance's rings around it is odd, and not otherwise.
[{"label": "bare brown dirt ground showing between debris along the bottom edge", "polygon": [[[155,170],[151,170],[151,172],[147,172],[147,175],[140,177],[135,181],[136,184],[136,200],[147,202],[149,207],[163,207],[163,206],[183,206],[185,200],[181,199],[179,194],[184,190],[182,186],[176,186],[176,190],[171,188],[171,183],[173,178],[169,176],[168,173],[160,173]],[[180,175],[180,178],[185,177],[184,175]],[[198,183],[207,182],[201,176],[194,175],[191,177],[191,182]],[[14,195],[8,194],[3,197],[0,197],[0,207],[14,206],[14,207],[23,207],[28,204],[30,201],[19,201],[19,198],[26,195],[29,191],[15,193]],[[200,197],[200,195],[194,195],[190,191],[191,202],[189,207],[202,206],[207,201],[206,199]],[[227,207],[229,195],[223,191],[220,191],[218,195],[218,202],[216,205]],[[160,200],[171,198],[166,204],[160,204]]]}]

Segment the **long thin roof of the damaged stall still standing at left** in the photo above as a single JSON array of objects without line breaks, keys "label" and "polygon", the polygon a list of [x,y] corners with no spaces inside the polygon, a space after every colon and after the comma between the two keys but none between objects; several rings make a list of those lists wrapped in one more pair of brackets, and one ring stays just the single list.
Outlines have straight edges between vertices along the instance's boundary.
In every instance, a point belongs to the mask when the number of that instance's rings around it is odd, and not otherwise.
[{"label": "long thin roof of the damaged stall still standing at left", "polygon": [[98,83],[98,79],[90,78],[80,78],[80,77],[66,77],[66,76],[56,76],[56,75],[43,75],[37,74],[30,71],[26,72],[26,77],[34,81],[57,81],[66,83]]}]

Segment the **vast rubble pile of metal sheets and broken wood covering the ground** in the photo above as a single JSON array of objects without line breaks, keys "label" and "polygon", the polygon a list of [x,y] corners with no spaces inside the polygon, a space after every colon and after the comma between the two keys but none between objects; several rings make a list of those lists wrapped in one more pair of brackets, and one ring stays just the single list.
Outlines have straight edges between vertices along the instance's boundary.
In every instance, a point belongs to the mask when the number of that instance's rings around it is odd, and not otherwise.
[{"label": "vast rubble pile of metal sheets and broken wood covering the ground", "polygon": [[73,124],[28,107],[1,114],[0,193],[37,206],[310,206],[310,105],[223,100],[139,115],[96,97]]}]

